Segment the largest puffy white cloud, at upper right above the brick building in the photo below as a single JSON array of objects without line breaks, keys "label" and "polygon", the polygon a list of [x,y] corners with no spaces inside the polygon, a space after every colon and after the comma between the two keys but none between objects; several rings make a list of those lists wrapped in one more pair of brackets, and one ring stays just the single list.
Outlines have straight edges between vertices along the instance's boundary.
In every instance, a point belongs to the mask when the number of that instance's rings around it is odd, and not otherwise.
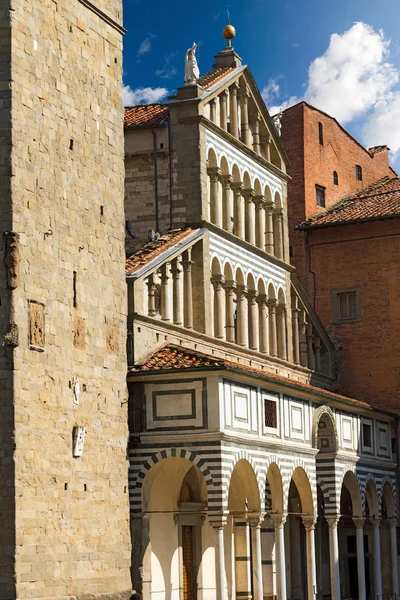
[{"label": "largest puffy white cloud, at upper right above the brick building", "polygon": [[389,45],[382,32],[365,23],[334,33],[326,52],[309,67],[304,99],[343,124],[365,115],[399,80],[388,62]]}]

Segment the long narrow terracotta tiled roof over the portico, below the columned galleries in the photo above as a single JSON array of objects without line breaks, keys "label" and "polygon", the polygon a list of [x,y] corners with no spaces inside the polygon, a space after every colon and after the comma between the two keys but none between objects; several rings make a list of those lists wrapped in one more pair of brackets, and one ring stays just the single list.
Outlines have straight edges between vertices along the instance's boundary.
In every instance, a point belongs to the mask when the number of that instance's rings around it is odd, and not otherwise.
[{"label": "long narrow terracotta tiled roof over the portico, below the columned galleries", "polygon": [[331,398],[332,400],[341,400],[343,402],[356,404],[365,408],[371,408],[370,404],[363,402],[362,400],[348,398],[347,396],[342,396],[341,394],[336,394],[335,392],[330,392],[308,383],[303,383],[301,381],[289,379],[288,377],[275,375],[255,367],[248,367],[246,365],[240,365],[231,361],[207,356],[193,350],[187,350],[179,346],[174,346],[173,344],[166,344],[162,348],[156,350],[147,360],[144,361],[143,364],[136,365],[135,367],[131,368],[129,372],[131,374],[143,375],[161,371],[184,371],[186,369],[230,370],[239,373],[255,375],[256,377],[260,377],[266,381],[270,381],[272,383],[282,383],[288,387],[298,389],[300,391],[309,391],[323,397]]}]

